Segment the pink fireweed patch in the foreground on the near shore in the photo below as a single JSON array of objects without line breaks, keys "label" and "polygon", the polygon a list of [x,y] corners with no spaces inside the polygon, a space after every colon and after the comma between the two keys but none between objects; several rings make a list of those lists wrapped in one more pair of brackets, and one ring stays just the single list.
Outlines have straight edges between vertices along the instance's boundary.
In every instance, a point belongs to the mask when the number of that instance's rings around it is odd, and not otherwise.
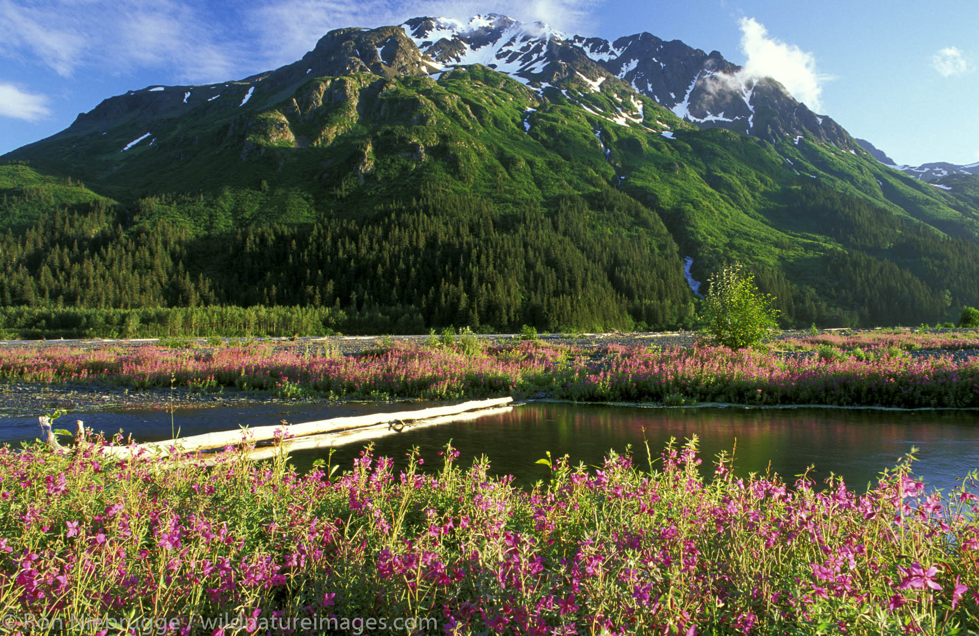
[{"label": "pink fireweed patch in the foreground on the near shore", "polygon": [[248,452],[163,469],[0,449],[0,613],[175,617],[181,634],[219,634],[202,617],[223,613],[239,633],[329,614],[434,616],[445,634],[979,629],[976,474],[928,492],[910,456],[858,493],[736,477],[724,455],[705,479],[694,438],[646,469],[557,461],[524,491],[450,446],[433,473],[368,447],[333,477]]}]

